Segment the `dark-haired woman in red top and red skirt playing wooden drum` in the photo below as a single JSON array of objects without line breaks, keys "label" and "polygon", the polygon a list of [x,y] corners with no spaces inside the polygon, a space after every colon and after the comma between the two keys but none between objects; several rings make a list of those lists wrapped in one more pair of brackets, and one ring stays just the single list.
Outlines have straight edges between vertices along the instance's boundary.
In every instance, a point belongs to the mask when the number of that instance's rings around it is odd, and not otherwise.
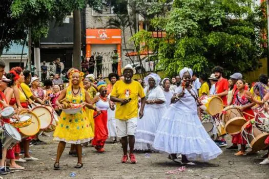
[{"label": "dark-haired woman in red top and red skirt playing wooden drum", "polygon": [[[251,102],[248,97],[251,96],[251,93],[247,90],[245,90],[245,81],[243,79],[238,79],[236,82],[237,91],[235,96],[235,100],[233,102],[234,105],[239,106],[239,109],[243,111],[244,118],[246,121],[249,121],[254,118],[254,112],[252,110],[252,107],[255,105],[254,102]],[[229,148],[238,149],[238,144],[241,145],[241,149],[235,153],[235,155],[246,155],[246,147],[247,144],[246,140],[242,137],[241,133],[238,133],[237,135],[232,135],[232,143],[233,146]]]}]

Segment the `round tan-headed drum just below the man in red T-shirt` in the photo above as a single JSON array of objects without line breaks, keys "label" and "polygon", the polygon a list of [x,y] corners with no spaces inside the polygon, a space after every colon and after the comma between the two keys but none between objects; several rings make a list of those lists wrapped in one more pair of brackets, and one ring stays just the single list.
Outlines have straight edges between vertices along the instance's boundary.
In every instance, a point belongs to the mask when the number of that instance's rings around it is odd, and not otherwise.
[{"label": "round tan-headed drum just below the man in red T-shirt", "polygon": [[223,109],[223,101],[219,97],[201,96],[199,100],[202,103],[199,107],[211,116],[219,114]]}]

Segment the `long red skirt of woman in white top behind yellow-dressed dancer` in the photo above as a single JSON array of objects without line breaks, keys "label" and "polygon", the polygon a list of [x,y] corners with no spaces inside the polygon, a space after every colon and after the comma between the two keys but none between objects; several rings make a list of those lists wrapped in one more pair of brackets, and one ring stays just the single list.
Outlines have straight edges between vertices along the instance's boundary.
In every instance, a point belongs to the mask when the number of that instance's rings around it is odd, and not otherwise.
[{"label": "long red skirt of woman in white top behind yellow-dressed dancer", "polygon": [[[94,112],[94,116],[97,112]],[[94,118],[94,138],[92,145],[103,147],[108,138],[108,111],[101,110],[101,114]]]}]

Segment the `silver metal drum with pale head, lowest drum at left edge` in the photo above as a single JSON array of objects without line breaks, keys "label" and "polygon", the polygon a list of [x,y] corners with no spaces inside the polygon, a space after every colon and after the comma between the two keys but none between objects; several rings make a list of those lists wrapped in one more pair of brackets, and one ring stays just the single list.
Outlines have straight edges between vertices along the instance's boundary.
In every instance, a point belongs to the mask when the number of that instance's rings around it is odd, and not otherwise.
[{"label": "silver metal drum with pale head, lowest drum at left edge", "polygon": [[19,132],[10,124],[3,125],[4,132],[2,134],[2,145],[6,149],[11,149],[17,142],[22,140]]}]

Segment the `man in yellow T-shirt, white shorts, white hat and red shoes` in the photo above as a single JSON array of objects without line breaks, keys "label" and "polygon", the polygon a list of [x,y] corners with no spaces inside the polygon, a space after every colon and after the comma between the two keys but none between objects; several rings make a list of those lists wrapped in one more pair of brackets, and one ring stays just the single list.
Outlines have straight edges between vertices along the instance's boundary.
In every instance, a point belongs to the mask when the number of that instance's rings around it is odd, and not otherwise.
[{"label": "man in yellow T-shirt, white shorts, white hat and red shoes", "polygon": [[146,98],[143,92],[143,87],[139,82],[133,81],[132,77],[136,70],[132,65],[128,64],[121,70],[125,77],[124,80],[117,81],[110,94],[110,99],[116,102],[116,125],[117,136],[121,138],[121,145],[123,149],[122,163],[128,161],[127,149],[128,141],[130,147],[131,163],[136,163],[136,158],[133,153],[135,144],[135,130],[137,127],[138,117],[138,98],[141,98],[141,108],[139,111],[139,118],[143,117],[144,105]]}]

